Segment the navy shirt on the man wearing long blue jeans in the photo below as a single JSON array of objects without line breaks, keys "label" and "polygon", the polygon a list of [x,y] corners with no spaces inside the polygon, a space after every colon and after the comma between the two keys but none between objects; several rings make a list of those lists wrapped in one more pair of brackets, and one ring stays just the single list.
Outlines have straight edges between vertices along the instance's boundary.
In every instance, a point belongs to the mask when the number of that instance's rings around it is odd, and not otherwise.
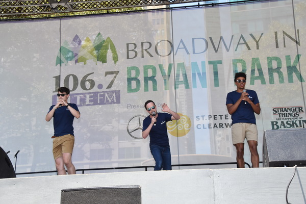
[{"label": "navy shirt on the man wearing long blue jeans", "polygon": [[[158,113],[156,118],[156,125],[152,126],[152,129],[149,133],[150,136],[150,146],[156,144],[159,146],[170,146],[168,131],[167,131],[167,122],[171,121],[171,114],[168,113]],[[150,116],[146,117],[142,122],[142,131],[145,131],[151,123]]]}]

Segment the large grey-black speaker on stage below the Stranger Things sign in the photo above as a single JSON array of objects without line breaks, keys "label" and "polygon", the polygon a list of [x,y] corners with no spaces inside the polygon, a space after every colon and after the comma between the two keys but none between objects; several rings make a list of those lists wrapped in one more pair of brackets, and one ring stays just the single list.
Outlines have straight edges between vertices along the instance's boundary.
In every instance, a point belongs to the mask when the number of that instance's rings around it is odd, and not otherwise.
[{"label": "large grey-black speaker on stage below the Stranger Things sign", "polygon": [[266,130],[263,167],[306,166],[306,129]]}]

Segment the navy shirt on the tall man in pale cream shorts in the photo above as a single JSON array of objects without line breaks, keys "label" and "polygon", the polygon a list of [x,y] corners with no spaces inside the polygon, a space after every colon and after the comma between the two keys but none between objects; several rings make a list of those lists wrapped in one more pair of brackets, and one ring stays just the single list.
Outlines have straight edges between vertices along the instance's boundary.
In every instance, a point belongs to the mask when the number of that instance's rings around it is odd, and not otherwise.
[{"label": "navy shirt on the tall man in pale cream shorts", "polygon": [[[257,97],[257,93],[253,90],[246,90],[246,92],[249,94],[249,99],[253,102],[253,104],[258,104],[259,100]],[[227,94],[226,96],[226,105],[227,104],[235,104],[236,101],[240,98],[241,93],[237,91],[232,91]],[[232,114],[232,124],[238,123],[238,122],[246,122],[246,123],[253,123],[256,124],[256,118],[254,115],[254,111],[249,103],[246,101],[241,100],[237,110]]]}]

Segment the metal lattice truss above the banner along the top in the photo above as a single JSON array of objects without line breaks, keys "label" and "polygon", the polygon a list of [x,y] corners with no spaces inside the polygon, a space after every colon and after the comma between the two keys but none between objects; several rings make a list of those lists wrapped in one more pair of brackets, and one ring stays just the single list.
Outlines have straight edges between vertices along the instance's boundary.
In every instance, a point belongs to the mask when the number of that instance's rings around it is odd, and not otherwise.
[{"label": "metal lattice truss above the banner along the top", "polygon": [[163,6],[205,1],[209,0],[1,0],[0,17]]}]

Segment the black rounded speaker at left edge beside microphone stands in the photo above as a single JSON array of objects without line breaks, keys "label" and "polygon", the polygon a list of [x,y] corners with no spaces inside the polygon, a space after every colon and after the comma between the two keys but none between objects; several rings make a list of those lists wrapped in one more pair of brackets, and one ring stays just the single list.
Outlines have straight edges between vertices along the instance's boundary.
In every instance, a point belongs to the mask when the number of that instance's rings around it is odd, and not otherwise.
[{"label": "black rounded speaker at left edge beside microphone stands", "polygon": [[15,178],[12,162],[3,148],[0,147],[0,179]]}]

